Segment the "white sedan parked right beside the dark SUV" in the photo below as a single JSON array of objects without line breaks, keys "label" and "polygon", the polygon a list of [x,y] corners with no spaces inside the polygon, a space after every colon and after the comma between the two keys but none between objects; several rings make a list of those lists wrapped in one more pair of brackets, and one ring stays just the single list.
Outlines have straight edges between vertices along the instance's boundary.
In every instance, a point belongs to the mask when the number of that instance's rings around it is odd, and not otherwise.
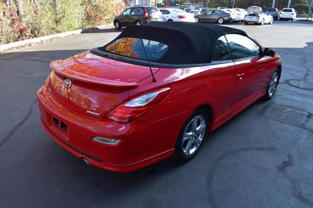
[{"label": "white sedan parked right beside the dark SUV", "polygon": [[194,14],[187,13],[181,9],[159,9],[166,21],[188,21],[195,22]]}]

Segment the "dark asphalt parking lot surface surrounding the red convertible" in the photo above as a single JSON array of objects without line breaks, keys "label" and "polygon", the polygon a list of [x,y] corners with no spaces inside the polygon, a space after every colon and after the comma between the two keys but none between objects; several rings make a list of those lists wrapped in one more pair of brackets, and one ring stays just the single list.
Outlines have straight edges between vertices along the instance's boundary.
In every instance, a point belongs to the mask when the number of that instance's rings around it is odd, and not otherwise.
[{"label": "dark asphalt parking lot surface surrounding the red convertible", "polygon": [[[120,31],[0,54],[0,207],[313,207],[313,24],[225,26],[281,56],[275,96],[215,130],[190,162],[169,158],[130,173],[86,166],[58,146],[40,125],[36,102],[49,62],[104,45]],[[304,122],[298,114],[293,123],[268,118],[276,105],[301,111]]]}]

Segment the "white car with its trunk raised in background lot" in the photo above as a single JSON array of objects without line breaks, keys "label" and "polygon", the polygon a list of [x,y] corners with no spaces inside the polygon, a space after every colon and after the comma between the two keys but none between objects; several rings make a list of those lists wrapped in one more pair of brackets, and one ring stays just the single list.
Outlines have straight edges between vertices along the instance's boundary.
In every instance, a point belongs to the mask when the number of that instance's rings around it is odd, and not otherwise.
[{"label": "white car with its trunk raised in background lot", "polygon": [[261,7],[258,6],[250,6],[248,8],[248,13],[245,16],[245,24],[249,22],[253,22],[255,24],[271,24],[273,23],[273,17],[266,12],[262,11]]}]

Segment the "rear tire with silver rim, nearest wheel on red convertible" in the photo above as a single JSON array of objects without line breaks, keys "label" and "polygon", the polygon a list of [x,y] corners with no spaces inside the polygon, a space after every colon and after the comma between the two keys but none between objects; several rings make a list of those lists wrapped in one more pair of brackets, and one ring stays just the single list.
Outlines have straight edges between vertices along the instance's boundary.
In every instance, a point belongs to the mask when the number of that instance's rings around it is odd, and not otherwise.
[{"label": "rear tire with silver rim, nearest wheel on red convertible", "polygon": [[203,109],[195,110],[183,125],[176,141],[176,157],[183,162],[195,157],[208,132],[208,115]]}]

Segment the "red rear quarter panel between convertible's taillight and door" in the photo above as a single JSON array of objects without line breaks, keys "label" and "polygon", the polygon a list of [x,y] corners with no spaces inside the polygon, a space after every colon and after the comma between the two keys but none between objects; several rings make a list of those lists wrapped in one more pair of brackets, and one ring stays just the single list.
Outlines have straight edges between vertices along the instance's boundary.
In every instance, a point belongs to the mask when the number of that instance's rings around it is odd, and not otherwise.
[{"label": "red rear quarter panel between convertible's taillight and door", "polygon": [[172,87],[171,93],[139,121],[151,123],[193,110],[202,104],[213,109],[213,119],[231,110],[236,89],[233,62],[192,68],[160,68],[155,74],[156,83],[149,77],[139,87],[129,91],[130,97],[142,91],[165,86]]}]

